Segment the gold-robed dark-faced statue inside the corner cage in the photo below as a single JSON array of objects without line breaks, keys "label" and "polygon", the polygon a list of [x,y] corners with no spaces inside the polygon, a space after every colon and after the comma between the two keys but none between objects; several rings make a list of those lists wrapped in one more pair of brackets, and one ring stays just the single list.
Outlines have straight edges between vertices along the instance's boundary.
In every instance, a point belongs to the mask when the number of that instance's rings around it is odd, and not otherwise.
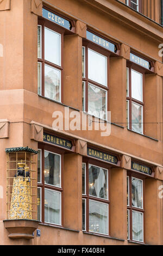
[{"label": "gold-robed dark-faced statue inside the corner cage", "polygon": [[29,167],[22,160],[18,162],[12,185],[9,219],[32,220],[32,193]]}]

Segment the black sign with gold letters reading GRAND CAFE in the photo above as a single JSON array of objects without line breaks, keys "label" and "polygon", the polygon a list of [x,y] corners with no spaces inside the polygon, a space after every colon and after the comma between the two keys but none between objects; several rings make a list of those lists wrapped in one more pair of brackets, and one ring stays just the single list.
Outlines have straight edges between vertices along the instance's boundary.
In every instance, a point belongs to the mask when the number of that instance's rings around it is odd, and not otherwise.
[{"label": "black sign with gold letters reading GRAND CAFE", "polygon": [[87,155],[91,157],[95,157],[96,159],[109,162],[109,163],[118,163],[118,159],[116,156],[110,155],[108,153],[104,153],[102,151],[92,149],[92,148],[87,148]]}]

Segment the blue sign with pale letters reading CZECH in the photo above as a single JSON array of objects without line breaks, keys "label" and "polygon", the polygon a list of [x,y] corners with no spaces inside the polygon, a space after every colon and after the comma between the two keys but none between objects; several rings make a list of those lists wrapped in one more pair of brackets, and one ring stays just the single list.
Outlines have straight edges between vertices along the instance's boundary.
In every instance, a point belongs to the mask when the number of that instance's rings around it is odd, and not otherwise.
[{"label": "blue sign with pale letters reading CZECH", "polygon": [[42,17],[44,17],[45,19],[52,21],[64,28],[67,28],[69,30],[71,30],[71,28],[72,28],[70,21],[67,21],[64,18],[62,18],[54,13],[51,13],[51,11],[48,11],[46,9],[42,9]]}]

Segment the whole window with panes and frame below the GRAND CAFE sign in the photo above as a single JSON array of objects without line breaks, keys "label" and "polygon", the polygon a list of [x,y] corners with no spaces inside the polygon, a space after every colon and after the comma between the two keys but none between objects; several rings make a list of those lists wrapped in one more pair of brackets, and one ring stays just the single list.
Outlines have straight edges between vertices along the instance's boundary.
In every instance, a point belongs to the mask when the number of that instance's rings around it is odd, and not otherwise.
[{"label": "whole window with panes and frame below the GRAND CAFE sign", "polygon": [[109,170],[83,163],[83,230],[109,235]]}]

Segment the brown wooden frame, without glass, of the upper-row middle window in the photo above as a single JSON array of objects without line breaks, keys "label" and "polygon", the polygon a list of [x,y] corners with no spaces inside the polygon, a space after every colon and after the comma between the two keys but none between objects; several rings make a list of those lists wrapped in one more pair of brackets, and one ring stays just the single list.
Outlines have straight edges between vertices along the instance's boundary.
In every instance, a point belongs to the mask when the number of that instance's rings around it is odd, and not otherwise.
[{"label": "brown wooden frame, without glass, of the upper-row middle window", "polygon": [[[85,47],[85,65],[84,65],[84,69],[85,69],[85,77],[83,77],[82,79],[82,84],[83,82],[85,82],[85,106],[84,106],[84,110],[86,113],[88,113],[88,84],[92,84],[92,86],[96,86],[100,89],[103,89],[106,91],[106,119],[107,120],[107,111],[109,111],[109,57],[110,57],[110,52],[105,50],[103,47],[97,46],[93,43],[91,43],[88,40],[83,40],[83,47]],[[102,54],[103,56],[105,56],[107,58],[107,62],[106,62],[106,79],[107,79],[107,83],[106,86],[103,86],[102,84],[99,84],[95,81],[92,81],[89,79],[88,77],[88,49],[93,50],[99,54]]]}]

